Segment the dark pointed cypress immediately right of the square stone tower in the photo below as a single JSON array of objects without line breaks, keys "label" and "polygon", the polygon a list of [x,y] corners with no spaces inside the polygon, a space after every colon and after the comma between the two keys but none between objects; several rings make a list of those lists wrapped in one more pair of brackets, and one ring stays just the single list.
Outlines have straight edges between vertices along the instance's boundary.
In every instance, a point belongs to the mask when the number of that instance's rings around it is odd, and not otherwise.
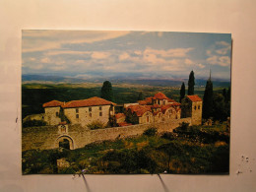
[{"label": "dark pointed cypress immediately right of the square stone tower", "polygon": [[213,115],[213,100],[214,100],[214,91],[213,83],[211,79],[206,83],[205,94],[203,98],[203,118],[208,119]]}]

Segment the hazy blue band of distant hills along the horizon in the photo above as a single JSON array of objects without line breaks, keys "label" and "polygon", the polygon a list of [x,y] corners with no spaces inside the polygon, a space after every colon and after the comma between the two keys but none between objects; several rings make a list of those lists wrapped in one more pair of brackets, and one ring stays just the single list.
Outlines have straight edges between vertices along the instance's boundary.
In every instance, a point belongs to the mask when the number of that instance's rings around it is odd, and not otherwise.
[{"label": "hazy blue band of distant hills along the horizon", "polygon": [[[158,87],[180,87],[182,82],[187,86],[187,79],[184,80],[140,80],[140,79],[131,79],[127,77],[111,77],[111,78],[97,78],[97,79],[80,79],[80,78],[70,78],[70,77],[61,77],[61,76],[46,76],[46,75],[23,75],[23,83],[100,83],[105,80],[110,81],[113,84],[137,84],[137,85],[146,85],[146,86],[158,86]],[[204,87],[207,80],[196,79],[197,87]],[[214,87],[229,87],[230,82],[222,80],[213,80]]]}]

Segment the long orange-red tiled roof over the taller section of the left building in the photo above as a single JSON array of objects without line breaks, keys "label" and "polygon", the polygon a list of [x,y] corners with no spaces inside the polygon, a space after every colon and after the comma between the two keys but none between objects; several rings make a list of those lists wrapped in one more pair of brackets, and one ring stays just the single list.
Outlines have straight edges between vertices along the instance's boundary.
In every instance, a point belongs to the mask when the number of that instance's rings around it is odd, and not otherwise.
[{"label": "long orange-red tiled roof over the taller section of the left building", "polygon": [[97,106],[97,105],[115,105],[115,103],[99,98],[97,96],[83,99],[83,100],[71,100],[62,105],[63,108],[83,107],[83,106]]}]

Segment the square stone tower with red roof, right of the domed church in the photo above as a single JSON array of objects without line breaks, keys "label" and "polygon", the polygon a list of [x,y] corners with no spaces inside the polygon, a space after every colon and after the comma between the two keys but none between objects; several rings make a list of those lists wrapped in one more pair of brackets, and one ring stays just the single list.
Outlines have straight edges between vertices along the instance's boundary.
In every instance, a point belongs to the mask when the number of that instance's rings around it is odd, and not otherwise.
[{"label": "square stone tower with red roof, right of the domed church", "polygon": [[197,95],[186,96],[182,99],[181,103],[181,117],[191,117],[192,125],[201,125],[203,107],[202,98]]}]

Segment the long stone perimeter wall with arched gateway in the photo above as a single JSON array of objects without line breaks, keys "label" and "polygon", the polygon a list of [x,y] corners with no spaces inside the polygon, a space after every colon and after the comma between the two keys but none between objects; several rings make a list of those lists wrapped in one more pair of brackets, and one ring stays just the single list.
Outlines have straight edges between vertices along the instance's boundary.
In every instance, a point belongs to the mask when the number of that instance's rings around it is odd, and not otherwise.
[{"label": "long stone perimeter wall with arched gateway", "polygon": [[48,150],[58,148],[59,142],[67,139],[70,142],[71,149],[83,148],[85,145],[96,141],[114,140],[116,138],[125,138],[129,136],[141,135],[150,128],[156,127],[158,132],[172,132],[180,123],[191,124],[191,118],[170,119],[164,122],[138,124],[125,127],[113,127],[98,130],[89,130],[79,124],[64,127],[42,126],[23,128],[22,150]]}]

